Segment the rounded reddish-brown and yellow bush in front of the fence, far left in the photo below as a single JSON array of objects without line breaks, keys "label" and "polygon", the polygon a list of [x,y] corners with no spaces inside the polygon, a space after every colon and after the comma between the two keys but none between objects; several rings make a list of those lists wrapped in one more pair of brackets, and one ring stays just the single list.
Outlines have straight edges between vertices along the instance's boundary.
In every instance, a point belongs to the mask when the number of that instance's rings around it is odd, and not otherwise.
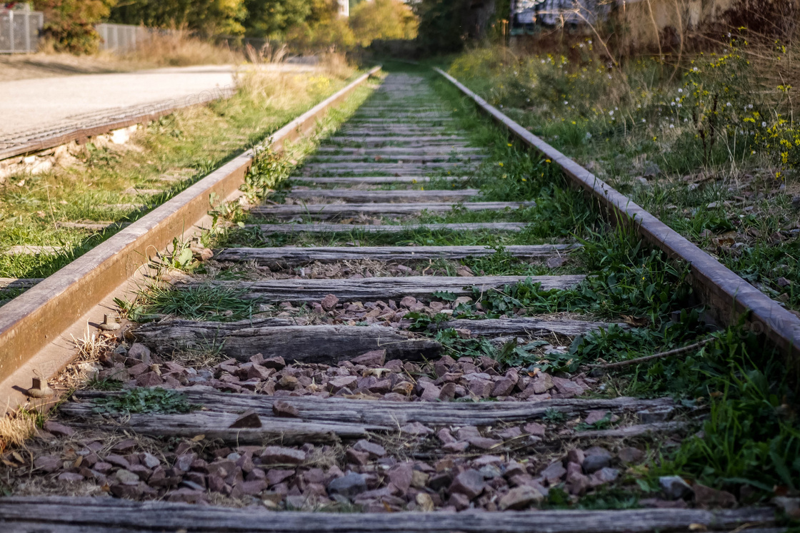
[{"label": "rounded reddish-brown and yellow bush in front of the fence, far left", "polygon": [[34,9],[45,14],[45,34],[55,50],[92,54],[100,35],[94,24],[106,18],[117,0],[34,0]]}]

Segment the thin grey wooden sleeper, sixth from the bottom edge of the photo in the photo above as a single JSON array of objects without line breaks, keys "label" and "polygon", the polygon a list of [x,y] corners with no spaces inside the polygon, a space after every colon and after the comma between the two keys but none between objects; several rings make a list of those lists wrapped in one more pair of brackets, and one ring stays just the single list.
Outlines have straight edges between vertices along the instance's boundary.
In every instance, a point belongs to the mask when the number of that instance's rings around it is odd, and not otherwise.
[{"label": "thin grey wooden sleeper, sixth from the bottom edge of the photo", "polygon": [[522,231],[525,222],[465,222],[463,224],[422,225],[365,225],[365,224],[248,224],[246,228],[258,228],[262,233],[402,233],[406,231]]}]

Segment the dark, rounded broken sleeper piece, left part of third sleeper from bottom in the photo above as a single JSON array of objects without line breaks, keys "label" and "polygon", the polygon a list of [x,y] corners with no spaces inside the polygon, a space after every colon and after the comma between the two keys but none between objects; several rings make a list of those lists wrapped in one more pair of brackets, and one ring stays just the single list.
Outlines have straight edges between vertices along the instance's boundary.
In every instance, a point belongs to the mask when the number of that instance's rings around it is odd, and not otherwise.
[{"label": "dark, rounded broken sleeper piece, left part of third sleeper from bottom", "polygon": [[172,320],[144,324],[134,335],[162,353],[224,343],[222,352],[226,356],[243,361],[261,353],[303,363],[331,364],[384,348],[390,359],[420,360],[438,355],[442,348],[427,337],[386,326],[272,326],[262,320]]}]

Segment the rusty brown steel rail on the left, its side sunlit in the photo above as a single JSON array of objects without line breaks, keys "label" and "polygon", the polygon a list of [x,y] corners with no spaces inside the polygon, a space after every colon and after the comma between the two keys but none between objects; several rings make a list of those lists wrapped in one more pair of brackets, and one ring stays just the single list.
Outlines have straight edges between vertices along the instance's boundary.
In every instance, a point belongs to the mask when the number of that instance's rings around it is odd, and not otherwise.
[{"label": "rusty brown steel rail on the left, its side sunlit", "polygon": [[[270,147],[279,150],[286,141],[302,137],[314,128],[318,117],[344,100],[380,68],[374,67],[278,129],[270,137]],[[142,265],[148,263],[150,257],[165,249],[175,237],[193,231],[207,216],[211,197],[234,197],[244,182],[252,159],[252,149],[234,157],[0,308],[0,381],[8,380],[14,371],[58,340],[79,317],[125,284]],[[41,366],[42,361],[39,363]],[[58,372],[63,363],[59,360],[45,366],[46,370],[42,372],[45,376],[42,377],[46,378]],[[28,387],[30,377],[27,378]]]}]

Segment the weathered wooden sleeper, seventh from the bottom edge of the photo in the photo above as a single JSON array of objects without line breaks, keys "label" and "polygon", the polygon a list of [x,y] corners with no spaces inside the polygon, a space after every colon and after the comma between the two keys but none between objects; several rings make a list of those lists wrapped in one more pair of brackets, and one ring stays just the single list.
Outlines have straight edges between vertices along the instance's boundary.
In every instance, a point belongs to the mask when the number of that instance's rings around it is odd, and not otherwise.
[{"label": "weathered wooden sleeper, seventh from the bottom edge of the photo", "polygon": [[533,201],[468,201],[463,204],[426,203],[426,204],[318,204],[318,205],[258,205],[250,209],[250,214],[257,217],[292,218],[310,217],[322,220],[334,218],[377,215],[378,217],[408,217],[422,211],[428,213],[446,213],[454,207],[467,211],[520,209],[534,207]]}]

